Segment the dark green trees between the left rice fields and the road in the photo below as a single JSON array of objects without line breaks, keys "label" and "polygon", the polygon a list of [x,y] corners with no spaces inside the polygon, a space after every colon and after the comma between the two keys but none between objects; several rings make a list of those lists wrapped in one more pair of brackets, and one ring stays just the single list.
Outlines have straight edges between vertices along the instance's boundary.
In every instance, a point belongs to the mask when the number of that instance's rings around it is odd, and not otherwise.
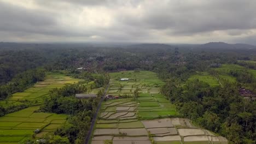
[{"label": "dark green trees between the left rice fields and the road", "polygon": [[[69,74],[83,77],[84,80],[91,79],[91,74],[84,71]],[[97,78],[95,79],[97,85],[94,88],[106,86],[109,81],[107,74],[97,74],[92,77]],[[43,105],[40,106],[40,111],[66,114],[69,117],[66,124],[55,130],[54,134],[43,137],[47,143],[84,143],[85,136],[91,126],[92,117],[103,95],[103,91],[99,91],[98,97],[95,99],[77,99],[74,97],[76,93],[86,91],[88,89],[83,82],[67,84],[62,88],[55,88],[50,91],[49,97],[45,98]],[[24,143],[26,142],[34,142],[34,140],[25,140]]]}]

